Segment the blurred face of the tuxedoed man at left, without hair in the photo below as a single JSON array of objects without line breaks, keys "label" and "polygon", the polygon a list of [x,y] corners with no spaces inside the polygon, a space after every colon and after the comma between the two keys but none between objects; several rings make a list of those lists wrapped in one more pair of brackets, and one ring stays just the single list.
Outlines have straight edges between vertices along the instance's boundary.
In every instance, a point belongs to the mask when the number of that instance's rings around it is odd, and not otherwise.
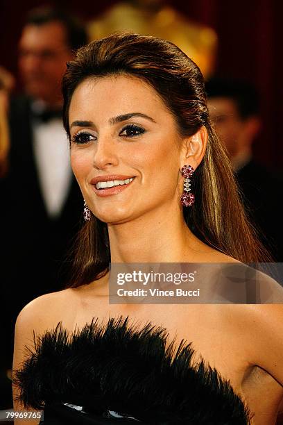
[{"label": "blurred face of the tuxedoed man at left, without hair", "polygon": [[60,22],[28,24],[19,41],[19,72],[26,93],[49,104],[60,104],[61,79],[71,60],[65,27]]}]

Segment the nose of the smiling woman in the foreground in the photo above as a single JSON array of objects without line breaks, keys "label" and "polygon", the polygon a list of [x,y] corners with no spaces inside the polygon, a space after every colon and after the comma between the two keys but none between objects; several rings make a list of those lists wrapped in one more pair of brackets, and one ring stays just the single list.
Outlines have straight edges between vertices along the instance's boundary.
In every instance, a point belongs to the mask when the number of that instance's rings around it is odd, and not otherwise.
[{"label": "nose of the smiling woman in the foreground", "polygon": [[96,143],[93,165],[96,169],[105,169],[109,165],[118,165],[117,143],[108,137],[99,137]]}]

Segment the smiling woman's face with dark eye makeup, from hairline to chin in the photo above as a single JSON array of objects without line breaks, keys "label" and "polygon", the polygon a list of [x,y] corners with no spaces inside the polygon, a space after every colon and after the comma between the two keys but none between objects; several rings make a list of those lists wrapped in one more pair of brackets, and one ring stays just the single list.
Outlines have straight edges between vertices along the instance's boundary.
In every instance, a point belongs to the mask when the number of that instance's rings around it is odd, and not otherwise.
[{"label": "smiling woman's face with dark eye makeup, from hairline to chin", "polygon": [[162,211],[180,208],[182,140],[172,114],[144,81],[83,81],[71,99],[69,123],[71,165],[101,221],[123,223],[157,210],[161,219]]}]

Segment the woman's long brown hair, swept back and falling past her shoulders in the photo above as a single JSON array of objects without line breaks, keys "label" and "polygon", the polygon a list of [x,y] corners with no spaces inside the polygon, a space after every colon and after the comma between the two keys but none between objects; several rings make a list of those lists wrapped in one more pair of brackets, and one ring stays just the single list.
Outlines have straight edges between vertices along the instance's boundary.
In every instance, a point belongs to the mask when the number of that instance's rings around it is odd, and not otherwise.
[{"label": "woman's long brown hair, swept back and falling past her shoulders", "polygon": [[[115,33],[82,47],[67,64],[63,78],[63,119],[69,134],[69,105],[86,78],[123,74],[141,78],[160,95],[175,117],[180,135],[208,132],[202,163],[194,173],[196,202],[184,208],[187,226],[203,242],[243,263],[264,261],[268,254],[248,223],[230,160],[207,111],[203,75],[198,66],[170,42],[133,33]],[[81,229],[74,252],[69,287],[90,283],[108,272],[107,224],[92,215]]]}]

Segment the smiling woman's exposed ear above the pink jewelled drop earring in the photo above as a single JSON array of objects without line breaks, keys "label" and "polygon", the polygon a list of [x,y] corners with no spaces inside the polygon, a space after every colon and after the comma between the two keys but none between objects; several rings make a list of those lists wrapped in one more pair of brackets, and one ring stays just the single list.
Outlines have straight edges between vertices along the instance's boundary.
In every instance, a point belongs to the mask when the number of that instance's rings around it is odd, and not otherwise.
[{"label": "smiling woman's exposed ear above the pink jewelled drop earring", "polygon": [[207,139],[207,129],[205,126],[201,126],[194,135],[182,140],[180,168],[184,165],[191,165],[194,169],[198,167],[205,155]]}]

